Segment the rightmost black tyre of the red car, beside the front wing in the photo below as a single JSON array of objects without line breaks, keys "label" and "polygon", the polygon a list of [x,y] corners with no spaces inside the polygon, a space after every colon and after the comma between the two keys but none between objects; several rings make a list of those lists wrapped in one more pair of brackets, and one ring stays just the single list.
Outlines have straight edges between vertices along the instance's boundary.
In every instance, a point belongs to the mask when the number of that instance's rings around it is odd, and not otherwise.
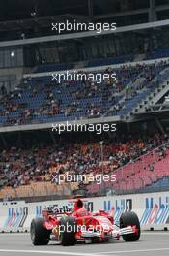
[{"label": "rightmost black tyre of the red car, beside the front wing", "polygon": [[136,226],[137,233],[123,235],[125,241],[139,240],[141,235],[140,222],[135,212],[122,213],[120,217],[120,228],[126,228],[127,226]]}]

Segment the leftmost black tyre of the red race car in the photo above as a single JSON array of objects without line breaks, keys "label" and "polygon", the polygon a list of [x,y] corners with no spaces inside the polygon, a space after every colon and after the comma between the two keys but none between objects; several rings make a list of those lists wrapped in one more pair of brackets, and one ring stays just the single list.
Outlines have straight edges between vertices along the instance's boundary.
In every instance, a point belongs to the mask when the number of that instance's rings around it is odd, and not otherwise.
[{"label": "leftmost black tyre of the red race car", "polygon": [[34,245],[47,245],[50,240],[51,231],[43,226],[44,218],[35,218],[31,222],[31,240]]}]

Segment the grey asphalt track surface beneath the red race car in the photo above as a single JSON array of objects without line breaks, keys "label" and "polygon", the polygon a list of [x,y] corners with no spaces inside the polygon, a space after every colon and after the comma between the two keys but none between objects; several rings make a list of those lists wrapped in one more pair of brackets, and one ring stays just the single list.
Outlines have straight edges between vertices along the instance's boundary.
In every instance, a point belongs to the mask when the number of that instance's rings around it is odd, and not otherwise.
[{"label": "grey asphalt track surface beneath the red race car", "polygon": [[63,247],[54,242],[33,246],[29,234],[0,234],[0,256],[169,256],[169,232],[144,232],[136,242],[124,240],[103,244]]}]

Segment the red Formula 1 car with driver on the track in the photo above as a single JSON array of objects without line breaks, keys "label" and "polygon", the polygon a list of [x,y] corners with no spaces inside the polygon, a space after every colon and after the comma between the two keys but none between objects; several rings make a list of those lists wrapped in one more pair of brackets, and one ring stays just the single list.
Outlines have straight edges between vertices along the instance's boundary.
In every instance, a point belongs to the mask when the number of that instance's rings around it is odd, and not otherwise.
[{"label": "red Formula 1 car with driver on the track", "polygon": [[84,208],[81,199],[74,202],[74,209],[59,212],[45,208],[42,218],[31,222],[30,234],[34,245],[46,245],[50,240],[60,241],[63,246],[74,245],[77,241],[104,242],[119,240],[136,241],[140,238],[140,223],[134,212],[123,213],[119,224],[114,223],[113,210],[90,212]]}]

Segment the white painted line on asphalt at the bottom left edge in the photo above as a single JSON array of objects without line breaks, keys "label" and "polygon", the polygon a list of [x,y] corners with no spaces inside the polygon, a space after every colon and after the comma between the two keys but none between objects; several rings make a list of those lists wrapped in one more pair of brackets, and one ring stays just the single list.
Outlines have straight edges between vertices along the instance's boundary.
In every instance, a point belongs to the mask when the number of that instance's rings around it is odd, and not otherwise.
[{"label": "white painted line on asphalt at the bottom left edge", "polygon": [[[69,256],[97,256],[95,253],[81,253],[81,252],[67,252],[67,251],[40,251],[40,250],[8,250],[0,249],[0,252],[11,253],[37,253],[37,254],[55,254],[55,255],[69,255]],[[99,256],[106,256],[99,254]]]}]

